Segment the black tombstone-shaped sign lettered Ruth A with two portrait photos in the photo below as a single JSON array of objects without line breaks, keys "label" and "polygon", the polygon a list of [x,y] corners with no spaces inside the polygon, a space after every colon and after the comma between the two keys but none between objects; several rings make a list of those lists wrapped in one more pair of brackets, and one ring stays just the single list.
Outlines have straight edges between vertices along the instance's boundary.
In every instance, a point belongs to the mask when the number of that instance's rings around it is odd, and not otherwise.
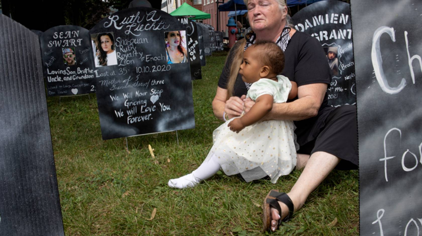
[{"label": "black tombstone-shaped sign lettered Ruth A with two portrait photos", "polygon": [[153,8],[129,8],[90,33],[103,139],[195,127],[183,24]]}]

